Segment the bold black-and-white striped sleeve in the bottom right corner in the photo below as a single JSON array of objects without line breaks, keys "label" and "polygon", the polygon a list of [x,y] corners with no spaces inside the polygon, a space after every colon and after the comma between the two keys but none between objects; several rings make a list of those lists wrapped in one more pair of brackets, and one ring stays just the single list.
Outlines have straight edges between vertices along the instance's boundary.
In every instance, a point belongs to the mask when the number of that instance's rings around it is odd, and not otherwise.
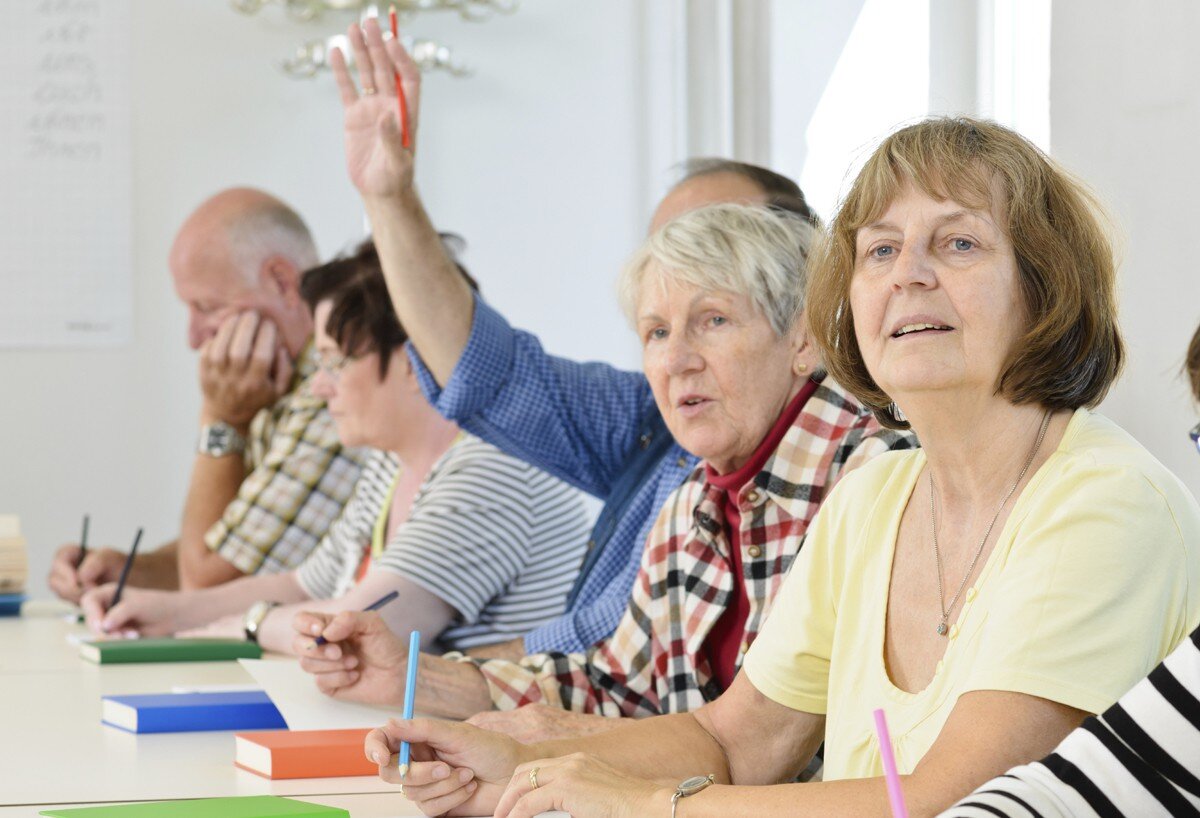
[{"label": "bold black-and-white striped sleeve in the bottom right corner", "polygon": [[1055,752],[943,818],[1200,814],[1200,630]]}]

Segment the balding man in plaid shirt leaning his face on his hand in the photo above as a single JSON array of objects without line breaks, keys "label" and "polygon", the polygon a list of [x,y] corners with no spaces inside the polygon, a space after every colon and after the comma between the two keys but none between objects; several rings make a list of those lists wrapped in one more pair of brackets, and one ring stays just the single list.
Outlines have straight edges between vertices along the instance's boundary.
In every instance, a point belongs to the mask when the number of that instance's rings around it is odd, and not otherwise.
[{"label": "balding man in plaid shirt leaning his face on his hand", "polygon": [[[204,588],[296,567],[349,498],[359,455],[342,451],[317,372],[301,273],[317,248],[275,197],[232,188],[187,217],[170,248],[175,293],[199,353],[197,453],[176,540],[142,553],[130,583]],[[62,546],[50,588],[65,600],[114,581],[125,554]]]}]

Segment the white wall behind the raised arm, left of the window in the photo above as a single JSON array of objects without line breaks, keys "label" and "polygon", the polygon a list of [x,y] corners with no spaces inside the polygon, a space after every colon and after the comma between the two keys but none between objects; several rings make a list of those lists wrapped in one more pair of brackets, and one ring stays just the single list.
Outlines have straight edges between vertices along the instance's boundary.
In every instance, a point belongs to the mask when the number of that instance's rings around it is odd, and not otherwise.
[{"label": "white wall behind the raised arm, left of the window", "polygon": [[[199,401],[164,259],[187,212],[254,185],[295,205],[324,253],[361,235],[331,79],[274,67],[318,29],[224,2],[133,0],[132,19],[134,342],[0,350],[0,513],[22,517],[37,595],[84,511],[97,543],[176,533]],[[467,264],[515,323],[556,351],[630,366],[612,281],[659,192],[637,150],[642,24],[635,0],[524,0],[486,24],[413,26],[478,66],[426,85],[419,184],[436,222],[468,240]]]}]

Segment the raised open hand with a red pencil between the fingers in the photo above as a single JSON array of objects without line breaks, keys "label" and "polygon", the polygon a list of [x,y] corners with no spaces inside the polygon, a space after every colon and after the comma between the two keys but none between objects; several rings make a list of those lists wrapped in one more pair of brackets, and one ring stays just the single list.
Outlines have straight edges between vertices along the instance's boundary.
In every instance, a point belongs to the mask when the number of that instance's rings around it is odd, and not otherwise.
[{"label": "raised open hand with a red pencil between the fingers", "polygon": [[[384,42],[377,19],[350,25],[348,35],[362,91],[350,78],[341,49],[334,49],[329,60],[346,112],[347,170],[364,199],[402,197],[413,188],[421,73],[398,40]],[[401,134],[397,72],[408,103],[408,148]]]}]

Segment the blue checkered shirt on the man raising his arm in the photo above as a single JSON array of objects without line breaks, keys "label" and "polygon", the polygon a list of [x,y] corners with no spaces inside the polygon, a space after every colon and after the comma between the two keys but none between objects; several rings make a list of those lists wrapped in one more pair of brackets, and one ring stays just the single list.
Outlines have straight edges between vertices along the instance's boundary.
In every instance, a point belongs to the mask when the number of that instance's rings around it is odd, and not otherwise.
[{"label": "blue checkered shirt on the man raising his arm", "polygon": [[[512,329],[478,296],[470,338],[445,387],[412,344],[409,357],[425,396],[445,417],[601,500],[628,479],[623,469],[631,452],[647,443],[640,438],[654,396],[642,373],[547,355],[534,336]],[[593,534],[589,547],[598,553],[566,613],[527,633],[527,652],[577,652],[612,634],[654,519],[696,463],[672,441],[648,467],[653,470],[617,510],[607,539]]]}]

